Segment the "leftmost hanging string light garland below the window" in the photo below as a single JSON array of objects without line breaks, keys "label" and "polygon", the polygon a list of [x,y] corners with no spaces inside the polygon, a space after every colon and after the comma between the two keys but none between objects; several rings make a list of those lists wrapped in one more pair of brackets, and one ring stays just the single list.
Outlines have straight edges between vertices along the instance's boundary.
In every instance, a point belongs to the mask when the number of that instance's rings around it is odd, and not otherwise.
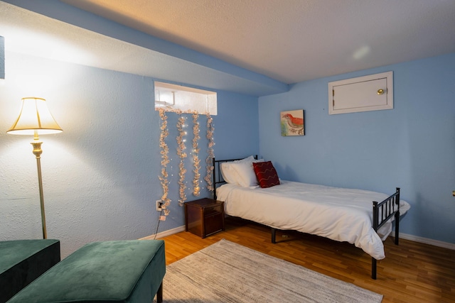
[{"label": "leftmost hanging string light garland below the window", "polygon": [[171,204],[171,199],[168,198],[169,182],[168,172],[166,170],[166,167],[169,163],[169,148],[166,144],[166,137],[168,136],[169,131],[167,116],[164,109],[159,109],[159,116],[161,118],[161,134],[159,136],[159,146],[161,148],[161,175],[159,176],[159,180],[161,182],[161,187],[163,187],[163,195],[161,196],[161,202],[163,202],[162,209],[164,210],[164,215],[167,216],[169,214],[167,207],[169,204]]}]

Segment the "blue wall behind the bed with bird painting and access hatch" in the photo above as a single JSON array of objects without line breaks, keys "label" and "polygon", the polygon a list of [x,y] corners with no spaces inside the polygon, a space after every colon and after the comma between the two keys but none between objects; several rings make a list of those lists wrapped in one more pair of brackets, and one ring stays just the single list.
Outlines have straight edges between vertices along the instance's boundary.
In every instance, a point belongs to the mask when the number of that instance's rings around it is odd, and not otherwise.
[{"label": "blue wall behind the bed with bird painting and access hatch", "polygon": [[[392,110],[328,115],[328,82],[394,72]],[[455,243],[455,54],[294,84],[259,97],[259,150],[279,177],[370,189],[412,204],[403,233]],[[280,111],[305,110],[306,136],[282,137]]]}]

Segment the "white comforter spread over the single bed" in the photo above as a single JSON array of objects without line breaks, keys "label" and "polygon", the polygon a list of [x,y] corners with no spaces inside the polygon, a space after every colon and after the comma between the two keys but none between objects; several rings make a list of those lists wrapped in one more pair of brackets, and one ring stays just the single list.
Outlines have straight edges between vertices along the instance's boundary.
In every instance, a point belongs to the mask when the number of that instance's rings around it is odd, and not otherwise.
[{"label": "white comforter spread over the single bed", "polygon": [[[311,233],[362,248],[373,258],[385,258],[382,239],[372,227],[373,201],[387,194],[361,189],[344,189],[282,181],[269,187],[240,187],[223,184],[217,199],[225,202],[225,213],[284,230]],[[400,214],[410,204],[400,201]],[[385,237],[391,231],[386,224]],[[381,233],[381,231],[379,231]]]}]

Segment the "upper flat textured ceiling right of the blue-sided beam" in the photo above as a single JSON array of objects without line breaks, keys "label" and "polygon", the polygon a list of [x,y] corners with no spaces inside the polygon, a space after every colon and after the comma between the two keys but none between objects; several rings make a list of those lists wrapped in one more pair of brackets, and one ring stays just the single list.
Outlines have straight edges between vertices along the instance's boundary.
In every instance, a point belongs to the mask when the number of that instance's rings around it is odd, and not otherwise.
[{"label": "upper flat textured ceiling right of the blue-sided beam", "polygon": [[454,0],[63,0],[287,84],[455,52]]}]

